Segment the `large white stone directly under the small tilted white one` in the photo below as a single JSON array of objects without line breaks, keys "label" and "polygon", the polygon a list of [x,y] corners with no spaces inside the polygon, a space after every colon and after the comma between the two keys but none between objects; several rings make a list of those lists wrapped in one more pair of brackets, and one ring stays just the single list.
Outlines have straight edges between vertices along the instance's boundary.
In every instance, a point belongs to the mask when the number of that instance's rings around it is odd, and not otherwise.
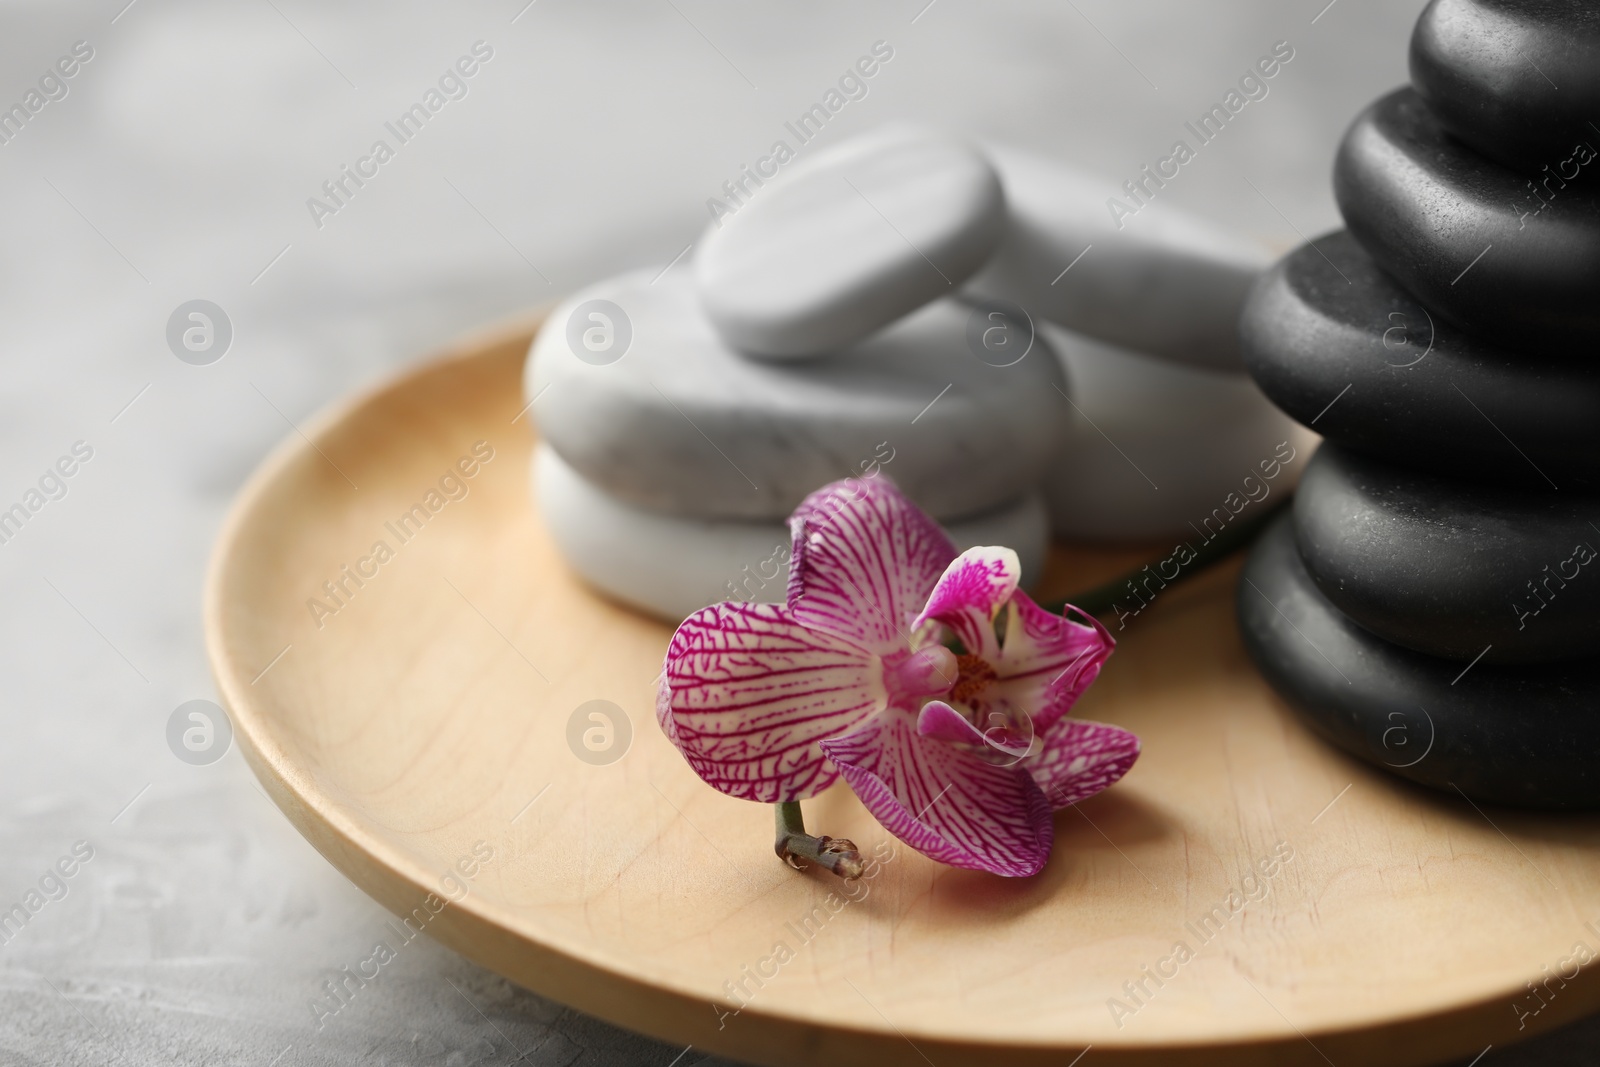
[{"label": "large white stone directly under the small tilted white one", "polygon": [[[555,309],[525,374],[544,440],[635,507],[781,520],[816,486],[882,467],[934,518],[960,518],[1037,486],[1067,432],[1067,381],[1048,346],[987,363],[968,347],[973,309],[958,301],[846,352],[773,363],[723,344],[688,278],[656,274],[611,278]],[[630,325],[614,362],[574,352],[594,301],[613,304],[603,314],[618,320],[618,349],[622,318]]]}]

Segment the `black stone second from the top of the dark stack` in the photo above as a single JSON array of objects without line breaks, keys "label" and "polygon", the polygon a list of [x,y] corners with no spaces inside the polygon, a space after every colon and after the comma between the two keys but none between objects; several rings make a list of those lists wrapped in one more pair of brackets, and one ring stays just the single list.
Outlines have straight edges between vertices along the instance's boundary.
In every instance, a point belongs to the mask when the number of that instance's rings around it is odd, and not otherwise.
[{"label": "black stone second from the top of the dark stack", "polygon": [[1350,234],[1435,314],[1520,350],[1594,360],[1600,158],[1566,170],[1571,181],[1536,189],[1450,138],[1406,88],[1350,125],[1333,192]]}]

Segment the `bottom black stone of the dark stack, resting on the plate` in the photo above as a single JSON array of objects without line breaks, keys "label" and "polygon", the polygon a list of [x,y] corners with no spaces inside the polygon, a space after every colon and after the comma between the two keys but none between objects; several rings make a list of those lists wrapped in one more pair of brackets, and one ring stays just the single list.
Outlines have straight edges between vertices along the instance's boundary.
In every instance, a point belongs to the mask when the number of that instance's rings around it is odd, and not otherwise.
[{"label": "bottom black stone of the dark stack, resting on the plate", "polygon": [[1480,803],[1600,808],[1600,662],[1462,673],[1389,645],[1317,590],[1286,517],[1245,563],[1238,625],[1278,696],[1350,755]]}]

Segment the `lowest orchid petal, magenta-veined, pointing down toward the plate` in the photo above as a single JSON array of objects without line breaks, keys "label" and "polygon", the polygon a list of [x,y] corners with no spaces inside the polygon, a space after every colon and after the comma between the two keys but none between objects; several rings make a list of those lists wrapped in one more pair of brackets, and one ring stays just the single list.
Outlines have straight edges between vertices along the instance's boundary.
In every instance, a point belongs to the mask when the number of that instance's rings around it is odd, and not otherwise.
[{"label": "lowest orchid petal, magenta-veined, pointing down toward the plate", "polygon": [[[861,803],[890,833],[952,867],[1022,878],[1050,859],[1050,803],[1027,771],[986,761],[947,733],[963,734],[946,705],[928,712],[930,734],[901,709],[822,742]],[[968,726],[968,729],[971,729]],[[981,739],[979,739],[981,744]]]}]

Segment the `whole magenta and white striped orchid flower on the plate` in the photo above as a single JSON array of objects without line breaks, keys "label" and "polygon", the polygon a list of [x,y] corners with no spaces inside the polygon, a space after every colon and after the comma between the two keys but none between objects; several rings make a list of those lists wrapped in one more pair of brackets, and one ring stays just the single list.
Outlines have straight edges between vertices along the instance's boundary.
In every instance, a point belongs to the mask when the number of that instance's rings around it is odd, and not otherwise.
[{"label": "whole magenta and white striped orchid flower on the plate", "polygon": [[786,605],[702,608],[672,635],[662,731],[707,784],[779,805],[779,856],[859,873],[853,845],[798,827],[795,801],[843,777],[936,861],[1038,872],[1051,813],[1139,755],[1131,733],[1067,717],[1110,633],[1034,603],[1011,549],[957,555],[885,478],[818,490],[789,528]]}]

